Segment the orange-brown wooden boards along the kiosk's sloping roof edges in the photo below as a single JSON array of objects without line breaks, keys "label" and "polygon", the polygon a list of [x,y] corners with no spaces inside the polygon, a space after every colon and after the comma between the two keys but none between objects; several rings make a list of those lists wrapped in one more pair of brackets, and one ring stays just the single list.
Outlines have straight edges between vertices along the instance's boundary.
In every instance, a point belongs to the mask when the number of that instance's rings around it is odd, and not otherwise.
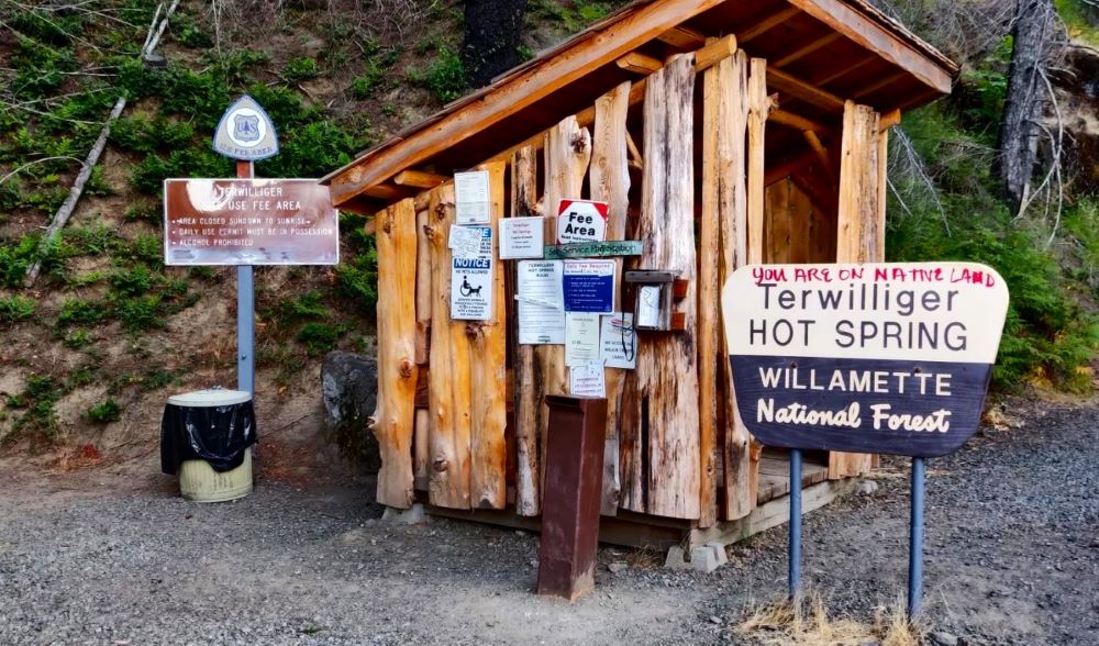
[{"label": "orange-brown wooden boards along the kiosk's sloping roof edges", "polygon": [[[591,70],[613,65],[637,47],[663,40],[669,30],[689,32],[686,25],[691,19],[724,1],[728,0],[639,0],[631,3],[543,52],[537,58],[497,77],[490,86],[446,105],[434,116],[362,153],[354,162],[321,181],[331,185],[337,205],[355,200],[396,174],[430,162],[447,147],[460,145],[468,137],[530,108]],[[804,12],[866,49],[869,56],[910,74],[926,88],[919,97],[907,98],[902,105],[896,107],[907,109],[950,92],[957,66],[864,0],[784,1],[790,7],[782,12],[790,9]],[[773,14],[762,18],[761,23],[768,18],[775,22]],[[766,30],[761,33],[764,32]],[[819,92],[828,94],[822,89]]]}]

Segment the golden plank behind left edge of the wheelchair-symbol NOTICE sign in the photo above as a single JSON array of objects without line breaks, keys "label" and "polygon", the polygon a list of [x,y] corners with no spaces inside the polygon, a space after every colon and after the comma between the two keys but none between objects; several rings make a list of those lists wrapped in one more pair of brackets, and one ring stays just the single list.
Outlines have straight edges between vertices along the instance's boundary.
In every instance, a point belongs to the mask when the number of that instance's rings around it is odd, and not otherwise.
[{"label": "golden plank behind left edge of the wheelchair-symbol NOTICE sign", "polygon": [[469,509],[469,344],[465,322],[451,321],[451,250],[446,246],[455,221],[453,183],[431,191],[428,215],[432,272],[428,495],[439,506]]}]

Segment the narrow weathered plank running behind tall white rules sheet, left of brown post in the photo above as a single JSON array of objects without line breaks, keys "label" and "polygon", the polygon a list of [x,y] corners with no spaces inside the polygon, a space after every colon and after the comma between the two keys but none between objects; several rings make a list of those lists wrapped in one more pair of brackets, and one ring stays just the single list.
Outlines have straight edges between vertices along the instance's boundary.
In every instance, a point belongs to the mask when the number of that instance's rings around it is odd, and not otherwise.
[{"label": "narrow weathered plank running behind tall white rules sheet, left of brown post", "polygon": [[[537,215],[537,155],[533,146],[515,153],[511,163],[511,216]],[[541,370],[535,371],[534,346],[515,344],[515,513],[542,513],[542,464],[539,410]]]}]

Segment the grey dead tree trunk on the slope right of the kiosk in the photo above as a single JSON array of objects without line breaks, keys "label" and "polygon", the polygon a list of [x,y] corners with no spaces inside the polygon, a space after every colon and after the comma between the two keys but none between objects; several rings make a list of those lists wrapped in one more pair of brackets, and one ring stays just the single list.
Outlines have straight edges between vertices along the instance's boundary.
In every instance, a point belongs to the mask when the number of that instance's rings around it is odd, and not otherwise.
[{"label": "grey dead tree trunk on the slope right of the kiosk", "polygon": [[1026,197],[1037,160],[1037,121],[1046,93],[1042,66],[1054,35],[1054,15],[1052,0],[1018,0],[1008,94],[997,143],[1000,154],[992,169],[1017,208]]}]

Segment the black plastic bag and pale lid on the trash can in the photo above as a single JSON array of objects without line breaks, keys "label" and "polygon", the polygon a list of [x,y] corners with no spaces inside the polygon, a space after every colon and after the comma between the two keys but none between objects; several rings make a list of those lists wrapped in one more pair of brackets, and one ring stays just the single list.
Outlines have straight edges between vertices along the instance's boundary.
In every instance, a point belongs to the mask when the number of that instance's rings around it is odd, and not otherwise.
[{"label": "black plastic bag and pale lid on the trash can", "polygon": [[219,474],[244,461],[256,443],[252,396],[240,390],[197,390],[168,398],[160,420],[160,470],[175,475],[186,460],[206,460]]}]

